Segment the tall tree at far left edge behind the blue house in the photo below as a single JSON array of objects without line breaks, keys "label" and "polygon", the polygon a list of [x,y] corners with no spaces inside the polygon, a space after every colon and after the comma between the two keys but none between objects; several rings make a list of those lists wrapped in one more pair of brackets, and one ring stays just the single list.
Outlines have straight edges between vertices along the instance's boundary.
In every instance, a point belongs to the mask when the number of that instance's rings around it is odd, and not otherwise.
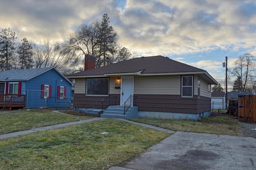
[{"label": "tall tree at far left edge behind the blue house", "polygon": [[16,34],[10,28],[0,32],[0,71],[12,69],[15,62]]}]

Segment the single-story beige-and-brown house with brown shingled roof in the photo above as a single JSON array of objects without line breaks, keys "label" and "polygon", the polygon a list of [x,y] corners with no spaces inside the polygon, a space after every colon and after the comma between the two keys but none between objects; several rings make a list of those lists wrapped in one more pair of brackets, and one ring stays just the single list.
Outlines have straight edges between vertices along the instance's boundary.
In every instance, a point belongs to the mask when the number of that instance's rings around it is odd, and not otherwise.
[{"label": "single-story beige-and-brown house with brown shingled roof", "polygon": [[137,117],[159,119],[198,120],[209,116],[211,84],[218,84],[206,70],[160,55],[98,68],[94,64],[66,77],[75,79],[74,110],[102,109],[102,101],[116,98],[121,108],[127,102],[136,106]]}]

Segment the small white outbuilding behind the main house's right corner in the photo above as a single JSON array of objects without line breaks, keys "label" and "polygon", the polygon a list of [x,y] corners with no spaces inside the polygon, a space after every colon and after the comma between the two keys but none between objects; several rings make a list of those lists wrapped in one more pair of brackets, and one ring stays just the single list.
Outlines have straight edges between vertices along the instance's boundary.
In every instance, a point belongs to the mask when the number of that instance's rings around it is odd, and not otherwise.
[{"label": "small white outbuilding behind the main house's right corner", "polygon": [[212,92],[212,109],[226,109],[225,92]]}]

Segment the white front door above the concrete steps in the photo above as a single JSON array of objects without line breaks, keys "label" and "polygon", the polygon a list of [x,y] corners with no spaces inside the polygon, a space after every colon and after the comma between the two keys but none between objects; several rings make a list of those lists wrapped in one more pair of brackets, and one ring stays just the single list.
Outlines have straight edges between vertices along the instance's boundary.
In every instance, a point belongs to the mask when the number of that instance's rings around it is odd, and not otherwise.
[{"label": "white front door above the concrete steps", "polygon": [[133,96],[133,77],[122,77],[120,105],[124,105],[130,96]]}]

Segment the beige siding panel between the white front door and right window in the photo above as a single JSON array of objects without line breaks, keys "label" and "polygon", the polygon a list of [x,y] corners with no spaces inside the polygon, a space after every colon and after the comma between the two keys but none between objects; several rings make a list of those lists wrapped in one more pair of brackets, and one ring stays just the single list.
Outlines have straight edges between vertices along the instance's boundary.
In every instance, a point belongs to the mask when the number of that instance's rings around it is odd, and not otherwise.
[{"label": "beige siding panel between the white front door and right window", "polygon": [[180,95],[180,75],[134,76],[134,94]]}]

